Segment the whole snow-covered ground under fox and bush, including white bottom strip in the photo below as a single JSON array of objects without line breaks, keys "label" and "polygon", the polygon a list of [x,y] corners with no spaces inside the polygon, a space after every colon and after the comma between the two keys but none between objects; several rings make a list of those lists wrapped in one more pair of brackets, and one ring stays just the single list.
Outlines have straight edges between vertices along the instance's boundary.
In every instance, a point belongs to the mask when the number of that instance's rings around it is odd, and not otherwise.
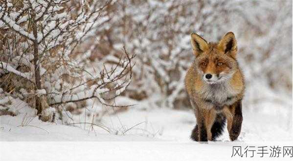
[{"label": "whole snow-covered ground under fox and bush, including white bottom strip", "polygon": [[[251,95],[253,94],[249,94],[249,96]],[[291,98],[288,99],[289,101],[286,101],[285,98],[284,101],[283,96],[269,95],[270,92],[265,92],[265,94],[261,95],[261,97],[270,97],[271,99],[260,103],[252,104],[250,101],[244,101],[244,121],[238,141],[229,141],[228,132],[225,128],[224,134],[216,142],[209,141],[207,144],[201,144],[189,139],[191,130],[196,122],[191,110],[145,108],[147,106],[146,102],[118,98],[117,101],[119,102],[125,103],[126,101],[136,105],[125,111],[94,118],[93,123],[96,125],[78,123],[92,121],[92,116],[87,116],[87,114],[97,108],[88,107],[92,109],[86,114],[83,112],[72,117],[74,122],[77,122],[76,124],[66,125],[60,121],[56,121],[57,123],[40,121],[35,117],[35,111],[25,102],[9,97],[6,98],[6,101],[8,99],[11,103],[6,106],[10,107],[10,111],[16,113],[17,116],[0,116],[0,141],[107,142],[2,142],[0,158],[1,160],[3,158],[3,161],[34,160],[28,153],[25,153],[25,151],[29,151],[31,154],[54,153],[54,156],[45,155],[47,160],[58,157],[59,160],[95,160],[98,158],[103,161],[187,161],[201,160],[208,157],[209,160],[226,161],[235,160],[235,158],[231,158],[233,146],[242,146],[242,148],[256,145],[268,147],[273,145],[292,146]],[[257,99],[261,99],[261,97]],[[249,98],[249,100],[252,99]],[[111,108],[108,110],[111,110]],[[34,148],[25,148],[31,146]],[[12,152],[18,155],[12,155]],[[63,155],[66,152],[74,154]],[[269,156],[265,158],[258,156],[252,159],[268,160],[271,158]],[[288,157],[279,159],[290,160]]]}]

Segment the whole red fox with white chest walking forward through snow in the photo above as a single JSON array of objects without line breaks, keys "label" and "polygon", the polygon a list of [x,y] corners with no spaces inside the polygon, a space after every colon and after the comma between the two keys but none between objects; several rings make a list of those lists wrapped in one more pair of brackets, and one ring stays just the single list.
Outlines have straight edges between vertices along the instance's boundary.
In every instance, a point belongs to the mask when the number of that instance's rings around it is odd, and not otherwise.
[{"label": "whole red fox with white chest walking forward through snow", "polygon": [[193,141],[215,141],[227,122],[231,141],[237,140],[242,126],[242,99],[245,82],[239,67],[237,41],[233,32],[218,42],[208,42],[191,34],[195,60],[185,75],[187,91],[196,125]]}]

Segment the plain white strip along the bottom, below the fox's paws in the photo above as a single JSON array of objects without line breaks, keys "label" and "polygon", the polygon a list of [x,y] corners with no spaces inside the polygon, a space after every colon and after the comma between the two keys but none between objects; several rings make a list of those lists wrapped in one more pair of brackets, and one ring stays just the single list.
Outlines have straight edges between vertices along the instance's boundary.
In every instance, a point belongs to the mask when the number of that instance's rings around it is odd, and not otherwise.
[{"label": "plain white strip along the bottom, below the fox's paws", "polygon": [[[238,145],[247,144],[238,143]],[[60,161],[205,161],[207,157],[208,161],[240,159],[231,158],[232,144],[225,145],[218,142],[212,144],[194,142],[14,142],[9,144],[5,142],[0,150],[3,152],[1,158],[5,161],[18,159],[37,161],[40,158],[42,161],[56,159]],[[241,158],[241,161],[279,161],[280,159],[291,161],[292,158],[255,156]]]}]

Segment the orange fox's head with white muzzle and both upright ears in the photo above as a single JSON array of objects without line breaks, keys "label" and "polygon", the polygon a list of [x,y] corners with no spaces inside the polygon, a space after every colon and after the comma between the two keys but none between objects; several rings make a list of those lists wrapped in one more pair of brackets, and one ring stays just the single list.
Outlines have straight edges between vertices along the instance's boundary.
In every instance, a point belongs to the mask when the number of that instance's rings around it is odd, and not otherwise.
[{"label": "orange fox's head with white muzzle and both upright ears", "polygon": [[237,42],[232,32],[225,34],[218,43],[208,43],[201,36],[192,33],[191,44],[196,57],[196,68],[206,83],[225,82],[238,69]]}]

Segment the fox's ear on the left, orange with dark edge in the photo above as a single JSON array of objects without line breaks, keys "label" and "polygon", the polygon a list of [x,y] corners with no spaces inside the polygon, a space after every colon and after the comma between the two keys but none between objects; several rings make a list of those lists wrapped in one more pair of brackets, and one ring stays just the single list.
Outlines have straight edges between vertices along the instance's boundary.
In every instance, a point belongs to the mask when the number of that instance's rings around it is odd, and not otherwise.
[{"label": "fox's ear on the left, orange with dark edge", "polygon": [[193,54],[197,57],[204,51],[208,50],[208,44],[201,36],[192,33],[191,34],[191,45]]}]

